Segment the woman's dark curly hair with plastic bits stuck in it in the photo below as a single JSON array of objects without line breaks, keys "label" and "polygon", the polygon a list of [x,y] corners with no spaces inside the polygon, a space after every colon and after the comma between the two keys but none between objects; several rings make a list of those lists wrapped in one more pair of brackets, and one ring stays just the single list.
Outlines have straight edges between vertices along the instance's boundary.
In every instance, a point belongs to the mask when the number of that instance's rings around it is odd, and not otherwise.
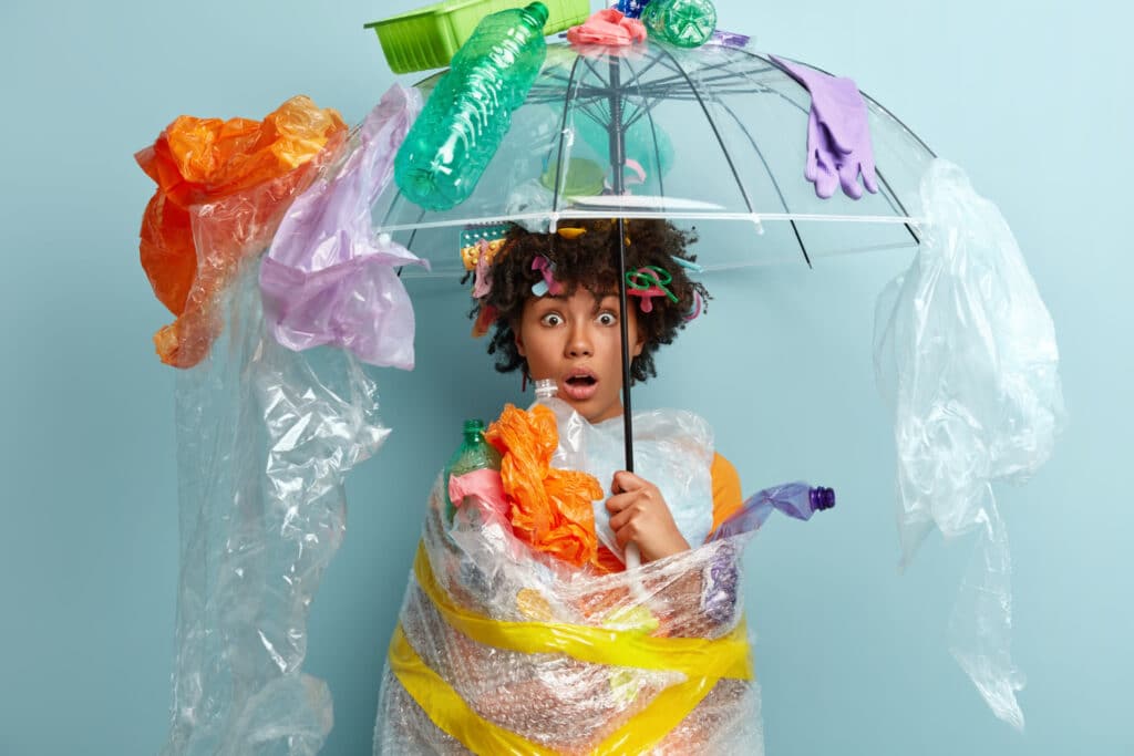
[{"label": "woman's dark curly hair with plastic bits stuck in it", "polygon": [[[543,255],[551,261],[555,278],[568,296],[578,287],[599,297],[618,290],[623,271],[617,269],[617,220],[568,223],[555,233],[532,233],[517,226],[508,232],[503,246],[492,260],[492,290],[476,301],[469,317],[494,316],[489,354],[496,355],[496,368],[501,373],[517,368],[527,371],[527,362],[516,349],[513,324],[519,321],[524,303],[535,296],[532,284],[543,280],[539,270],[532,270],[532,261],[536,256]],[[658,347],[671,343],[677,332],[685,328],[688,316],[699,306],[703,307],[710,297],[704,284],[691,280],[687,270],[675,261],[696,261],[696,255],[686,250],[696,241],[695,232],[652,219],[624,221],[624,229],[628,240],[627,270],[648,265],[665,269],[672,277],[666,288],[677,297],[676,303],[668,297],[654,297],[649,313],[641,312],[635,298],[629,301],[637,316],[638,332],[645,337],[642,354],[631,363],[631,375],[635,381],[645,381],[657,375],[653,355]],[[697,297],[702,300],[700,304]]]}]

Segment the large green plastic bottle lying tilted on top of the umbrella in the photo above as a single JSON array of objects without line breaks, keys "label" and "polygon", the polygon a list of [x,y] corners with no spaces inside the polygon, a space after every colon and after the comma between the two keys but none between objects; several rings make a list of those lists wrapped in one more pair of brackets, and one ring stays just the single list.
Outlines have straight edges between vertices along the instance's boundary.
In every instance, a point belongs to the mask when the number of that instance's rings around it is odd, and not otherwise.
[{"label": "large green plastic bottle lying tilted on top of the umbrella", "polygon": [[543,66],[547,20],[542,2],[485,16],[452,57],[395,159],[409,199],[448,210],[473,193]]}]

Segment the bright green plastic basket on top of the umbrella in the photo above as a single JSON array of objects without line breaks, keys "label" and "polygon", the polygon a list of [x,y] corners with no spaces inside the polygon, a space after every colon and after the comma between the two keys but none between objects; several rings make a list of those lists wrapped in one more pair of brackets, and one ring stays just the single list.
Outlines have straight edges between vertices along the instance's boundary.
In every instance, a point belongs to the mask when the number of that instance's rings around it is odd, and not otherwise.
[{"label": "bright green plastic basket on top of the umbrella", "polygon": [[[591,15],[590,0],[540,0],[548,7],[547,35],[576,26]],[[447,0],[371,22],[395,74],[445,68],[489,14],[523,8],[525,0]]]}]

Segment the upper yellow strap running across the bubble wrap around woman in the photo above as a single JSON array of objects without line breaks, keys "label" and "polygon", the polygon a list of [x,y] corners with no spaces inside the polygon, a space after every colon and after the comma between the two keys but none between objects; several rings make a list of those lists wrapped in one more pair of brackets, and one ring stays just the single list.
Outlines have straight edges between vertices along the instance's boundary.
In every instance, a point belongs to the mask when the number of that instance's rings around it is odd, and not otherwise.
[{"label": "upper yellow strap running across the bubble wrap around woman", "polygon": [[452,603],[418,545],[414,574],[422,591],[450,627],[466,637],[523,654],[566,654],[582,662],[676,671],[687,678],[752,679],[747,631],[741,622],[723,638],[655,638],[642,632],[610,630],[565,622],[503,622]]}]

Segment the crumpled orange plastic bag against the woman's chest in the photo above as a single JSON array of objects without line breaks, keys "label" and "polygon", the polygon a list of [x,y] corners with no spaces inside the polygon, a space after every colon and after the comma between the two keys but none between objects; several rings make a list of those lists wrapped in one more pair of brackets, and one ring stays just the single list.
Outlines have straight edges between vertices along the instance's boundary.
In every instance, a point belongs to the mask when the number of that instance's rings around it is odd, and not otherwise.
[{"label": "crumpled orange plastic bag against the woman's chest", "polygon": [[501,455],[500,478],[516,537],[536,551],[582,567],[594,562],[599,538],[591,502],[602,498],[593,475],[551,467],[559,445],[555,414],[505,407],[484,434]]}]

